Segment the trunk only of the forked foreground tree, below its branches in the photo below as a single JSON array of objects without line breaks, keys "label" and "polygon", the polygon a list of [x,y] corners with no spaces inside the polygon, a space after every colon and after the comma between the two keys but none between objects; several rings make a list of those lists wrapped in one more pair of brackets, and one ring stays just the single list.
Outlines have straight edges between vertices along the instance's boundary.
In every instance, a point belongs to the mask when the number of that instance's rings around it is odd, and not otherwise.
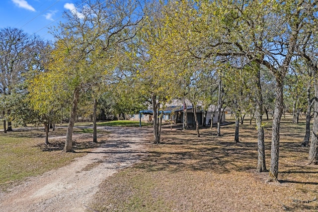
[{"label": "trunk only of the forked foreground tree, below its branches", "polygon": [[276,99],[275,109],[273,115],[272,128],[272,144],[271,144],[271,158],[268,182],[278,181],[278,160],[279,160],[279,129],[280,120],[283,112],[283,75],[281,72],[276,73]]}]

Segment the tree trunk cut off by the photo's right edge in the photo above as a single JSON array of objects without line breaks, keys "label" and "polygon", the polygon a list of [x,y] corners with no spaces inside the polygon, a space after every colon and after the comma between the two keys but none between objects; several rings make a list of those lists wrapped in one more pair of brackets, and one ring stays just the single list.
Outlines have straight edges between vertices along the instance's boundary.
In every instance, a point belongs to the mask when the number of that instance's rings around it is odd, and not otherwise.
[{"label": "tree trunk cut off by the photo's right edge", "polygon": [[309,164],[318,164],[318,79],[317,70],[313,69],[314,88],[315,88],[315,105],[314,105],[314,122],[312,131],[312,142],[309,147]]}]

